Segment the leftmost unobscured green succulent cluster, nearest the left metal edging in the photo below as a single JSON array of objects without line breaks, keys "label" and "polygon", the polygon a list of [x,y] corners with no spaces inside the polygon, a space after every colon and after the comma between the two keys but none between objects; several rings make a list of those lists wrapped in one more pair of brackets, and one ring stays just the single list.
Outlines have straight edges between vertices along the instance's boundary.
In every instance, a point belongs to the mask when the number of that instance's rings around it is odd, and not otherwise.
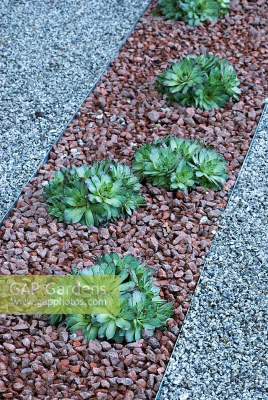
[{"label": "leftmost unobscured green succulent cluster, nearest the left metal edging", "polygon": [[127,165],[106,159],[55,172],[43,195],[59,221],[96,226],[144,205],[140,186]]}]

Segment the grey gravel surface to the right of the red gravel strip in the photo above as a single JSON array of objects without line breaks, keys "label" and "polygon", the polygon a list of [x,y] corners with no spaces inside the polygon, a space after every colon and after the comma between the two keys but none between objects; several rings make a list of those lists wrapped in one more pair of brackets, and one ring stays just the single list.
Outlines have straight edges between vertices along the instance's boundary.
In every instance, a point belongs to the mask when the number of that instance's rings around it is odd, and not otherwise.
[{"label": "grey gravel surface to the right of the red gravel strip", "polygon": [[161,400],[268,399],[268,105],[208,255]]}]

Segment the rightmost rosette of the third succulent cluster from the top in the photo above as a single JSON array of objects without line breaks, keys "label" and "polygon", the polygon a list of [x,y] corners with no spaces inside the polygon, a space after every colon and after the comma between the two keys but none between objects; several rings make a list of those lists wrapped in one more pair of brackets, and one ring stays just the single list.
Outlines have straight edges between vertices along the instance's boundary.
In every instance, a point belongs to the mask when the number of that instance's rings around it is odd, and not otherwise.
[{"label": "rightmost rosette of the third succulent cluster from the top", "polygon": [[214,150],[201,148],[192,156],[191,166],[204,188],[220,189],[226,181],[226,162]]}]

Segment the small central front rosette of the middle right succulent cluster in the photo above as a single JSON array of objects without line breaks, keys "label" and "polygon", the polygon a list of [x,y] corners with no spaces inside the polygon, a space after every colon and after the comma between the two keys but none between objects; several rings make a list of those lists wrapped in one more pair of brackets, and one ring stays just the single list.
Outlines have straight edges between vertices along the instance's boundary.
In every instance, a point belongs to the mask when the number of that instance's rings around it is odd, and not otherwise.
[{"label": "small central front rosette of the middle right succulent cluster", "polygon": [[194,168],[187,165],[186,160],[181,160],[176,167],[175,172],[170,176],[170,189],[188,190],[195,186]]}]

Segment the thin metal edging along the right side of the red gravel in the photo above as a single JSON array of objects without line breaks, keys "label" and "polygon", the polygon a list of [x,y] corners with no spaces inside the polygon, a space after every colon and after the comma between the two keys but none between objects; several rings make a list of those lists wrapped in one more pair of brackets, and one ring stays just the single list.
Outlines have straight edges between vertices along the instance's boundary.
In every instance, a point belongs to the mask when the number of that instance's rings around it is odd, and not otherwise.
[{"label": "thin metal edging along the right side of the red gravel", "polygon": [[[249,147],[248,147],[247,153],[246,153],[245,158],[244,158],[244,160],[243,160],[243,163],[242,163],[242,166],[241,166],[240,171],[239,171],[239,173],[238,173],[238,176],[237,176],[237,178],[236,178],[236,180],[235,180],[235,184],[234,184],[234,186],[233,186],[232,189],[231,189],[231,192],[230,192],[230,195],[229,195],[229,198],[228,198],[228,201],[227,201],[225,210],[227,209],[227,207],[228,207],[228,205],[229,205],[229,203],[230,203],[230,200],[232,199],[232,196],[233,196],[233,193],[234,193],[234,189],[235,189],[235,187],[236,187],[236,184],[237,184],[237,182],[238,182],[238,179],[240,178],[241,172],[242,172],[242,170],[244,169],[244,166],[245,166],[245,163],[246,163],[246,160],[247,160],[249,151],[251,150],[251,147],[252,147],[253,143],[255,142],[257,133],[258,133],[258,131],[259,131],[260,123],[261,123],[261,121],[262,121],[263,116],[266,114],[266,112],[268,112],[268,99],[265,99],[265,100],[264,100],[263,109],[262,109],[261,115],[260,115],[260,117],[259,117],[259,120],[258,120],[256,129],[255,129],[255,132],[254,132],[254,134],[253,134],[252,140],[251,140],[250,145],[249,145]],[[225,212],[225,210],[224,210],[224,212]],[[223,217],[224,217],[224,216],[223,216]],[[166,376],[166,374],[167,374],[167,369],[168,369],[168,367],[169,367],[170,360],[171,360],[171,358],[173,357],[173,353],[174,353],[175,348],[176,348],[176,346],[177,346],[177,343],[178,343],[178,340],[179,340],[181,331],[182,331],[183,326],[184,326],[184,321],[186,320],[187,315],[188,315],[188,312],[189,312],[190,309],[191,309],[191,303],[192,303],[192,300],[193,300],[194,297],[195,297],[196,288],[197,288],[197,286],[199,285],[200,279],[201,279],[201,277],[202,277],[202,275],[203,275],[203,273],[204,273],[204,270],[205,270],[205,268],[206,268],[206,263],[207,263],[206,260],[207,260],[208,255],[210,254],[210,252],[211,252],[212,249],[213,249],[213,244],[214,244],[215,238],[217,237],[217,234],[218,234],[218,229],[217,229],[217,231],[216,231],[216,233],[215,233],[215,235],[214,235],[214,237],[213,237],[211,246],[210,246],[210,248],[209,248],[209,250],[208,250],[208,252],[207,252],[207,254],[206,254],[206,257],[205,257],[205,262],[204,262],[204,264],[203,264],[203,266],[202,266],[202,268],[201,268],[201,270],[200,270],[200,276],[199,276],[199,278],[198,278],[198,281],[197,281],[197,283],[196,283],[194,292],[193,292],[193,294],[192,294],[192,297],[191,297],[191,300],[190,300],[190,306],[189,306],[189,308],[187,309],[187,312],[186,312],[185,318],[184,318],[184,320],[183,320],[182,326],[181,326],[181,328],[179,329],[178,336],[177,336],[177,338],[176,338],[176,341],[175,341],[173,350],[172,350],[172,352],[171,352],[171,354],[170,354],[168,363],[167,363],[167,365],[166,365],[166,368],[165,368],[163,377],[162,377],[162,379],[161,379],[160,386],[159,386],[159,388],[158,388],[158,390],[157,390],[157,393],[156,393],[156,396],[155,396],[154,400],[160,400],[162,385],[163,385],[164,378],[165,378],[165,376]]]}]

